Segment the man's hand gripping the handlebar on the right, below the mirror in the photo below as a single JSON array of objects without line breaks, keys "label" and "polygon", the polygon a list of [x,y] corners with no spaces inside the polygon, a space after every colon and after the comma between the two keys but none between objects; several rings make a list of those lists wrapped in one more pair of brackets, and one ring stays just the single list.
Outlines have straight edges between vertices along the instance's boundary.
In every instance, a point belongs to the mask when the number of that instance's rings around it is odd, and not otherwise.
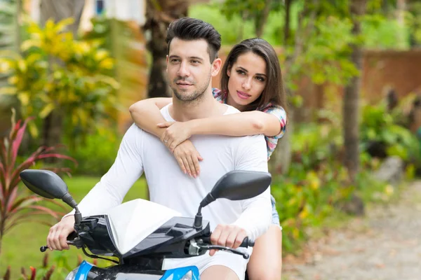
[{"label": "man's hand gripping the handlebar on the right, below the mirror", "polygon": [[[210,241],[214,245],[238,248],[247,237],[247,232],[238,225],[218,225],[210,235]],[[214,255],[216,250],[210,250],[209,255]]]}]

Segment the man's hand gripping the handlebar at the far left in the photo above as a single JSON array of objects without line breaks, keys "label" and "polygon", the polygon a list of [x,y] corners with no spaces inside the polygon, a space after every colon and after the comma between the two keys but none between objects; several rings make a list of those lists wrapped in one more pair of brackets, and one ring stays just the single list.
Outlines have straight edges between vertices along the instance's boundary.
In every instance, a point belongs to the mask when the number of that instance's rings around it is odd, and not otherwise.
[{"label": "man's hand gripping the handlebar at the far left", "polygon": [[47,237],[47,247],[50,250],[68,250],[67,236],[74,231],[74,216],[70,215],[62,219],[50,228]]}]

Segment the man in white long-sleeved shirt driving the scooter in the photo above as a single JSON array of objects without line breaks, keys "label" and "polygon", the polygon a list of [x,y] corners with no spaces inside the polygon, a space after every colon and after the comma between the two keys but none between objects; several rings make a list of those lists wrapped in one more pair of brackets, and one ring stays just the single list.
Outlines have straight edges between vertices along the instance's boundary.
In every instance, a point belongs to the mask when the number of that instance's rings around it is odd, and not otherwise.
[{"label": "man in white long-sleeved shirt driving the scooter", "polygon": [[[174,92],[173,104],[161,109],[166,120],[187,121],[239,112],[220,104],[212,95],[210,80],[221,66],[221,59],[217,58],[218,31],[201,20],[182,18],[170,25],[166,41],[168,80]],[[121,141],[114,165],[79,204],[81,213],[98,213],[121,204],[124,195],[145,171],[152,202],[194,217],[203,197],[227,172],[234,169],[267,172],[262,135],[194,136],[190,140],[205,159],[201,162],[201,174],[195,179],[180,171],[178,162],[158,138],[133,124]],[[213,243],[236,248],[246,236],[256,239],[267,230],[271,212],[268,188],[250,200],[217,200],[204,208],[202,214],[210,221]],[[56,250],[68,248],[65,240],[73,226],[74,217],[65,216],[51,228],[47,246]],[[210,254],[212,256],[166,260],[163,269],[196,265],[201,279],[244,278],[247,260],[223,251]]]}]

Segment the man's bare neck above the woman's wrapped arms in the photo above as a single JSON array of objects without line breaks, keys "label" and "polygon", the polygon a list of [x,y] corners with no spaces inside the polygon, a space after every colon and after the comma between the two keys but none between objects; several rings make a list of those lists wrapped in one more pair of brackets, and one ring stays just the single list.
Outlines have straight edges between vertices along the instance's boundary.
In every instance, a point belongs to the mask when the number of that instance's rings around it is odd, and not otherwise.
[{"label": "man's bare neck above the woman's wrapped arms", "polygon": [[183,102],[173,96],[173,105],[169,108],[171,117],[178,122],[187,122],[198,118],[222,116],[227,108],[213,98],[212,89],[203,92],[199,99]]}]

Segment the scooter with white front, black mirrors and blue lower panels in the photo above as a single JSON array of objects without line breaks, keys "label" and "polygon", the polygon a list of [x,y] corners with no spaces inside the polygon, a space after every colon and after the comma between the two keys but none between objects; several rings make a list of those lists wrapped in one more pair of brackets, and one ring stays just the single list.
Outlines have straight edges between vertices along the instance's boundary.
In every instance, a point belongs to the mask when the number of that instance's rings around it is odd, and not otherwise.
[{"label": "scooter with white front, black mirrors and blue lower panels", "polygon": [[[228,251],[247,259],[249,254],[244,248],[253,246],[254,241],[246,237],[240,246],[243,248],[237,249],[211,244],[210,224],[203,220],[201,209],[221,198],[246,200],[255,197],[263,193],[272,181],[267,172],[228,172],[200,202],[194,218],[183,217],[173,209],[140,199],[120,204],[105,213],[82,217],[66,183],[54,172],[27,169],[20,173],[20,178],[32,192],[48,199],[60,199],[75,210],[74,232],[67,237],[67,244],[81,249],[90,258],[115,263],[101,268],[84,260],[69,272],[65,280],[199,280],[197,267],[164,270],[163,262],[203,255],[211,249]],[[41,246],[40,251],[46,249],[46,246]]]}]

